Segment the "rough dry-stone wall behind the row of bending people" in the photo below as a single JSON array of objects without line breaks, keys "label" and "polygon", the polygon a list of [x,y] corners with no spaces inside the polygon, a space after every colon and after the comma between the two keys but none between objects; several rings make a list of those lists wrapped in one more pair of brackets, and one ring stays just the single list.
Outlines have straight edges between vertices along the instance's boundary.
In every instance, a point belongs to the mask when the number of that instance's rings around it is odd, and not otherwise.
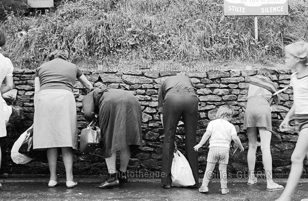
[{"label": "rough dry-stone wall behind the row of bending people", "polygon": [[[133,72],[133,73],[131,73]],[[165,78],[175,75],[171,71],[131,71],[125,73],[118,70],[104,71],[103,73],[91,73],[84,71],[86,77],[96,87],[108,86],[129,90],[139,99],[143,110],[143,151],[133,151],[129,164],[129,171],[159,172],[162,163],[163,130],[157,113],[158,89]],[[229,159],[228,172],[237,173],[248,171],[247,150],[248,139],[243,131],[243,115],[247,101],[249,78],[257,73],[257,70],[222,70],[209,71],[206,73],[186,73],[197,88],[199,96],[199,121],[197,140],[200,141],[207,124],[215,118],[217,108],[221,105],[231,105],[235,110],[232,123],[235,125],[245,151],[240,156],[231,156]],[[288,86],[291,71],[286,69],[274,70],[273,77],[278,89]],[[16,165],[9,158],[10,148],[18,136],[32,124],[33,121],[33,94],[34,94],[34,71],[16,70],[14,80],[18,95],[15,105],[21,106],[25,112],[25,119],[20,124],[8,129],[9,136],[1,139],[2,167],[0,173],[9,174],[49,174],[48,164],[45,158],[35,159],[26,165]],[[78,111],[78,126],[81,130],[85,120],[81,114],[81,100],[86,91],[77,81],[74,87],[76,105]],[[281,105],[272,106],[273,134],[271,150],[273,156],[273,170],[275,173],[288,173],[291,166],[291,155],[297,140],[297,134],[292,129],[290,132],[278,130],[282,117],[286,115],[292,106],[292,90],[288,89],[280,94]],[[258,109],[258,108],[256,108]],[[177,129],[177,144],[179,150],[184,149],[184,129],[180,122]],[[258,138],[259,140],[259,138]],[[206,168],[208,146],[199,150],[199,171],[202,174]],[[184,152],[184,151],[182,151]],[[231,150],[230,150],[231,152]],[[64,165],[59,153],[59,174],[64,174]],[[262,156],[260,148],[257,150],[256,170],[262,171]],[[308,162],[305,160],[304,172],[308,171]],[[97,150],[94,155],[81,155],[74,152],[74,174],[76,175],[100,175],[106,174],[107,168],[104,159]],[[138,176],[138,175],[135,175]],[[140,175],[139,175],[140,176]]]}]

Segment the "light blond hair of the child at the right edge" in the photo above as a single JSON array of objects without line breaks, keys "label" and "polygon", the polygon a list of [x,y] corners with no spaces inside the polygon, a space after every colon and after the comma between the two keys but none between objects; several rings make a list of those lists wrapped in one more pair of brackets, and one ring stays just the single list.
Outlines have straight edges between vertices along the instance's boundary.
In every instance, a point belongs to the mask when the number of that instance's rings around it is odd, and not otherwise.
[{"label": "light blond hair of the child at the right edge", "polygon": [[308,43],[298,41],[285,46],[285,52],[299,59],[300,63],[308,65]]}]

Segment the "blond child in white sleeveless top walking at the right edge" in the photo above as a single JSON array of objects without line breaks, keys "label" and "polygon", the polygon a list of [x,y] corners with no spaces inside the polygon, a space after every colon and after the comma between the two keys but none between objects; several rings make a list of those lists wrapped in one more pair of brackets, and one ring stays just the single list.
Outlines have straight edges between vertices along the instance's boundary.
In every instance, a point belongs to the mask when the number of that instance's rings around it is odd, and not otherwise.
[{"label": "blond child in white sleeveless top walking at the right edge", "polygon": [[279,128],[290,126],[290,119],[294,115],[298,139],[291,156],[292,165],[287,185],[276,201],[292,200],[292,194],[303,172],[303,161],[308,154],[308,43],[295,42],[285,46],[284,50],[287,67],[296,72],[292,73],[290,80],[293,105]]}]

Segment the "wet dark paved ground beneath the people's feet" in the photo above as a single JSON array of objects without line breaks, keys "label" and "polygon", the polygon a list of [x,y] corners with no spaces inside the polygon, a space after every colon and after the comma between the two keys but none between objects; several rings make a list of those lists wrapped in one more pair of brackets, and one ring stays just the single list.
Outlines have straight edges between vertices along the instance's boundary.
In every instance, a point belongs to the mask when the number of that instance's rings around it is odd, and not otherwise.
[{"label": "wet dark paved ground beneath the people's feet", "polygon": [[[47,179],[5,179],[0,180],[0,201],[274,201],[282,191],[266,191],[266,183],[261,180],[254,186],[246,185],[246,180],[228,180],[230,193],[220,193],[219,180],[213,180],[208,194],[198,189],[172,187],[162,188],[160,180],[131,179],[128,184],[117,189],[98,189],[94,185],[99,179],[77,179],[78,186],[66,188],[65,181],[49,188]],[[200,180],[200,184],[201,184]],[[286,180],[276,180],[285,186]],[[293,201],[308,199],[308,180],[302,179],[293,196]]]}]

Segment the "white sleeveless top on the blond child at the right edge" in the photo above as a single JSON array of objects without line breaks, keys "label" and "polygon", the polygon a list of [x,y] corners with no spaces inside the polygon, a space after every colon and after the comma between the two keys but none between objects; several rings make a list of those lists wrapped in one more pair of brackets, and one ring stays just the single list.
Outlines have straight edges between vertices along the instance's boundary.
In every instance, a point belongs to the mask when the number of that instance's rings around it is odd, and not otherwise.
[{"label": "white sleeveless top on the blond child at the right edge", "polygon": [[297,72],[291,75],[293,88],[294,113],[308,114],[308,76],[297,78]]}]

